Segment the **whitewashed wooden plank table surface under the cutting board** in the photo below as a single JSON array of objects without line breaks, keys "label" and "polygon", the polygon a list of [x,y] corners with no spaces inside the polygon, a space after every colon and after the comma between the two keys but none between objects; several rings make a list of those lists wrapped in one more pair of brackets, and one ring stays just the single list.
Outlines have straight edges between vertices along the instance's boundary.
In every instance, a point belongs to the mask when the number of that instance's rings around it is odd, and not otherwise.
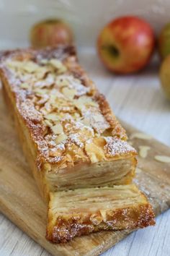
[{"label": "whitewashed wooden plank table surface under the cutting board", "polygon": [[[140,74],[117,76],[104,69],[94,51],[81,51],[79,59],[118,117],[170,146],[170,102],[160,90],[157,61]],[[0,215],[0,255],[50,254]],[[103,254],[110,255],[169,256],[170,210],[156,218],[156,226],[133,232]]]}]

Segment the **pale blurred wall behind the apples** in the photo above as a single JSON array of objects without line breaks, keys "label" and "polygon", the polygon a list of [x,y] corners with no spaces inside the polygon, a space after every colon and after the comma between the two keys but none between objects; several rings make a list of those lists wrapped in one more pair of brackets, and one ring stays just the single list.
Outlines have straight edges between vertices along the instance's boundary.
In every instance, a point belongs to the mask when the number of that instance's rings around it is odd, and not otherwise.
[{"label": "pale blurred wall behind the apples", "polygon": [[64,18],[79,46],[94,46],[99,30],[114,17],[144,17],[158,33],[169,12],[169,0],[0,0],[1,46],[27,45],[31,25],[46,17]]}]

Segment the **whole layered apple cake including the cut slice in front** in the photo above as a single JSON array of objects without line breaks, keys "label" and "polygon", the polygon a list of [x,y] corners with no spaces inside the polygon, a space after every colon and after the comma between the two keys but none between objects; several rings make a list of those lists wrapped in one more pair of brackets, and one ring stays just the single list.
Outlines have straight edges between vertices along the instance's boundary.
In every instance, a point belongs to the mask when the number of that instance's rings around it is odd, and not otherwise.
[{"label": "whole layered apple cake including the cut slice in front", "polygon": [[50,200],[48,239],[153,224],[151,205],[128,185],[136,151],[73,46],[6,51],[0,58],[24,155]]}]

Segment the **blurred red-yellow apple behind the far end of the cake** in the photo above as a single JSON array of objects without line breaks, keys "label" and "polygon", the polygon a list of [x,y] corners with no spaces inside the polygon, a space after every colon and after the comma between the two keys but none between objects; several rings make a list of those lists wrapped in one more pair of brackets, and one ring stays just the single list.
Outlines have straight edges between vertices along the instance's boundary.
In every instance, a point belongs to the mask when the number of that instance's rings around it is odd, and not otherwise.
[{"label": "blurred red-yellow apple behind the far end of the cake", "polygon": [[72,43],[71,28],[62,20],[44,20],[35,24],[30,33],[32,47],[43,48],[60,43]]}]

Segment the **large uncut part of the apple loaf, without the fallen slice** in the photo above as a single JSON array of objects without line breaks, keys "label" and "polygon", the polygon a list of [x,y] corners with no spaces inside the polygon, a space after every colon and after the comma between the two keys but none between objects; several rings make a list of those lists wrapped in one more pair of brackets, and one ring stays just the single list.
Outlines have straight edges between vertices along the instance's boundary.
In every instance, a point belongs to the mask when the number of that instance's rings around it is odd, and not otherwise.
[{"label": "large uncut part of the apple loaf, without the fallen slice", "polygon": [[1,55],[5,95],[43,197],[132,181],[136,151],[72,46]]}]

